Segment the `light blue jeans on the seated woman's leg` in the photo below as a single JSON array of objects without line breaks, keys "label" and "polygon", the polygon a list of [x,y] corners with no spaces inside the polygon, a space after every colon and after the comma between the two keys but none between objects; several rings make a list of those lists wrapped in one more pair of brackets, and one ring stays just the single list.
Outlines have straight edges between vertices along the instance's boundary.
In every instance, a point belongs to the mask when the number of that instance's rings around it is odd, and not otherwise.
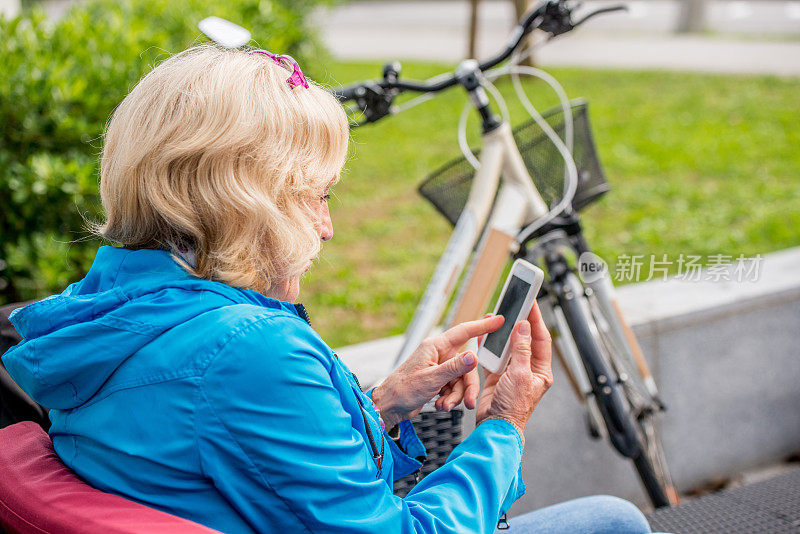
[{"label": "light blue jeans on the seated woman's leg", "polygon": [[562,502],[508,520],[495,534],[645,534],[650,525],[636,506],[619,497],[595,495]]}]

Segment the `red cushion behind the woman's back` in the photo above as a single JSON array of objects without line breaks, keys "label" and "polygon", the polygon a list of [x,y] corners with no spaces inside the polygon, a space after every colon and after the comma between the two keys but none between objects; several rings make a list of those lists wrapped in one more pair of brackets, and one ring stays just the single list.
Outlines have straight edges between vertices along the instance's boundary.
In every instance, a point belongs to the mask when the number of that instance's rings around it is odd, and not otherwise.
[{"label": "red cushion behind the woman's back", "polygon": [[89,486],[30,421],[0,429],[0,473],[0,524],[11,532],[216,532]]}]

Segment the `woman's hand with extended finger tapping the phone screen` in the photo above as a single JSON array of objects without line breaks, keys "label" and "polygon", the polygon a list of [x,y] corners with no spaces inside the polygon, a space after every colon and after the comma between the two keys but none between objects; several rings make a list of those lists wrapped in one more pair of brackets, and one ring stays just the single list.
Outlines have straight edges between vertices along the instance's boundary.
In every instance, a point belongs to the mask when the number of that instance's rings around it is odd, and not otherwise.
[{"label": "woman's hand with extended finger tapping the phone screen", "polygon": [[408,359],[372,391],[386,428],[417,415],[436,394],[439,410],[451,410],[462,400],[475,408],[480,390],[477,358],[458,350],[474,337],[494,332],[503,325],[499,315],[461,323],[429,337]]}]

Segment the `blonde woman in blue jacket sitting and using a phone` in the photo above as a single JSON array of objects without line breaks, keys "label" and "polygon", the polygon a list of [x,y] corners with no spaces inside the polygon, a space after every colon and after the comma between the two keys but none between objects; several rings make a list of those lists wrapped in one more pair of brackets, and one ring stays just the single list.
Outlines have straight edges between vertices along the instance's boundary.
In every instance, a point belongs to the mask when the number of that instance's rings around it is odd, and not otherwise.
[{"label": "blonde woman in blue jacket sitting and using a phone", "polygon": [[[288,68],[288,70],[287,70]],[[290,76],[291,74],[291,76]],[[348,146],[341,106],[288,57],[210,46],[174,56],[114,112],[101,165],[106,221],[86,277],[13,317],[9,372],[50,408],[61,459],[93,486],[222,532],[491,532],[522,495],[523,430],[552,382],[537,310],[478,399],[470,338],[426,340],[379,387],[309,326],[299,281],[331,239]],[[420,467],[408,419],[435,397],[477,428],[406,498]],[[514,528],[647,532],[610,497]]]}]

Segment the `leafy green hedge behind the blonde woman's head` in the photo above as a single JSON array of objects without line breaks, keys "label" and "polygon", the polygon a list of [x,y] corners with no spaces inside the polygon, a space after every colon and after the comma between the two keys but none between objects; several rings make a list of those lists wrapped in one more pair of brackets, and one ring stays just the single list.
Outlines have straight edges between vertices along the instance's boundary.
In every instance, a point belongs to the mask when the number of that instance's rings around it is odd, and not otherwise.
[{"label": "leafy green hedge behind the blonde woman's head", "polygon": [[89,0],[56,22],[36,8],[0,19],[0,304],[85,274],[99,244],[85,223],[100,218],[103,127],[153,65],[206,40],[198,21],[241,24],[253,44],[292,54],[313,77],[324,51],[307,19],[320,3]]}]

